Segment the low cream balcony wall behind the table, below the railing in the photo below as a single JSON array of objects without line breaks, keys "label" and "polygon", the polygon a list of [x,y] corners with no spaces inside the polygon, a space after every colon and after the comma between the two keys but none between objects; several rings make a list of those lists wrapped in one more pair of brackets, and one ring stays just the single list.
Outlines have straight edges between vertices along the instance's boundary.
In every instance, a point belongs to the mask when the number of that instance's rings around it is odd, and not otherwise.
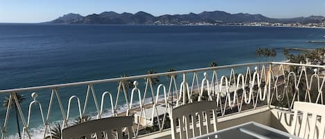
[{"label": "low cream balcony wall behind the table, below the railing", "polygon": [[[279,108],[276,106],[262,106],[258,109],[243,111],[242,113],[233,113],[231,115],[226,115],[225,117],[218,118],[218,130],[225,129],[228,127],[233,127],[238,124],[243,124],[245,122],[258,122],[260,124],[266,125],[267,127],[272,127],[274,129],[279,129],[281,131],[290,133],[292,128],[291,127],[292,120],[293,120],[293,112],[289,111],[286,108]],[[300,128],[300,124],[301,124],[301,120],[298,120],[297,127]],[[310,123],[307,122],[306,133],[309,132],[309,128],[308,128],[309,124]],[[316,130],[319,130],[320,127],[321,127],[321,123],[317,121]],[[159,131],[144,136],[140,136],[139,138],[170,139],[171,138],[170,133],[171,133],[170,129],[166,129],[164,131]],[[317,138],[318,136],[319,136],[319,131],[316,132],[315,138]]]}]

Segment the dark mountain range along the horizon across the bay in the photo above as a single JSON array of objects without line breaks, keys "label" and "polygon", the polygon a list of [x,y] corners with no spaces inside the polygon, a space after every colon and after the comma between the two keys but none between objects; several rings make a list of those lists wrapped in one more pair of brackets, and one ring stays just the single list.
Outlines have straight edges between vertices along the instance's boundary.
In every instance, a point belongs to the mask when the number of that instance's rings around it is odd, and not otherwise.
[{"label": "dark mountain range along the horizon across the bay", "polygon": [[231,14],[223,11],[193,12],[184,15],[161,15],[155,17],[147,12],[137,12],[135,14],[123,12],[102,12],[82,17],[78,14],[69,13],[53,21],[50,24],[228,24],[228,23],[247,23],[247,22],[274,22],[274,23],[320,23],[325,21],[322,16],[297,17],[291,19],[274,19],[260,14],[252,15],[248,13]]}]

